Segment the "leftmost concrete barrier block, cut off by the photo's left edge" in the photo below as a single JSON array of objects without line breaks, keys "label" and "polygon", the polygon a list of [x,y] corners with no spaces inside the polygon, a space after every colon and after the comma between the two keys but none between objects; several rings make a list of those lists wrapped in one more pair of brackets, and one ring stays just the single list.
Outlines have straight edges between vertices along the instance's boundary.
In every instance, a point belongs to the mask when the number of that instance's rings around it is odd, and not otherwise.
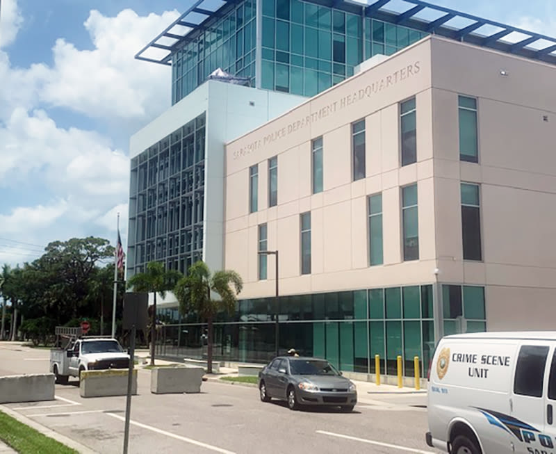
[{"label": "leftmost concrete barrier block, cut off by the photo's left edge", "polygon": [[54,373],[0,377],[0,403],[54,400]]}]

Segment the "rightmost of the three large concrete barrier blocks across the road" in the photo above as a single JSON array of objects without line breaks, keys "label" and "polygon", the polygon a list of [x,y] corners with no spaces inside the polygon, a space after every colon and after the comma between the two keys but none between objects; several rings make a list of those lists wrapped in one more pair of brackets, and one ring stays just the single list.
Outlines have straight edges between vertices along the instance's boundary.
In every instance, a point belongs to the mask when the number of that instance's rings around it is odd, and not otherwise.
[{"label": "rightmost of the three large concrete barrier blocks across the road", "polygon": [[200,393],[203,375],[202,367],[156,367],[151,371],[151,392]]}]

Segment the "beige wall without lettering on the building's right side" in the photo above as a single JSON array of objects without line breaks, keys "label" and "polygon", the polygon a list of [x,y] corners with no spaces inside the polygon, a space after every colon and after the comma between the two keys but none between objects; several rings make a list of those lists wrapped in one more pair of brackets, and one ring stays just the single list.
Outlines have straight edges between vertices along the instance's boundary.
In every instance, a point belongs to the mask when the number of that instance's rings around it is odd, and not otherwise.
[{"label": "beige wall without lettering on the building's right side", "polygon": [[[553,329],[556,67],[449,40],[431,45],[439,280],[486,285],[489,330]],[[479,163],[459,161],[459,94],[477,97]],[[461,181],[481,185],[482,262],[463,261]]]}]

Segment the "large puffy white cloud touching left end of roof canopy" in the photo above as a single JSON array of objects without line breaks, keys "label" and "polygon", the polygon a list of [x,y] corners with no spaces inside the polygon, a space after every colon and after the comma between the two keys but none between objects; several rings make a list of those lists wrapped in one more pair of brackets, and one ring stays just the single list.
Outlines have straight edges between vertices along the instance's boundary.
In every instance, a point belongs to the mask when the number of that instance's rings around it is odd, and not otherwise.
[{"label": "large puffy white cloud touching left end of roof canopy", "polygon": [[174,10],[140,17],[126,9],[106,17],[92,10],[84,26],[95,49],[58,39],[42,101],[107,120],[161,113],[170,105],[170,68],[134,56],[178,16]]}]

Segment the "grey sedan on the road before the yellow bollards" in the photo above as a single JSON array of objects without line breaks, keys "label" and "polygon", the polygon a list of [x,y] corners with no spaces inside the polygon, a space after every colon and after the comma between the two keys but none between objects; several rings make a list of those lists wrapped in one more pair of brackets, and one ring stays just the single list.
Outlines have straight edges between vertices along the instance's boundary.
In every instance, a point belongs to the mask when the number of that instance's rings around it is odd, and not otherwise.
[{"label": "grey sedan on the road before the yellow bollards", "polygon": [[357,403],[355,384],[326,359],[277,357],[259,372],[263,402],[286,400],[291,410],[302,405],[329,405],[351,412]]}]

